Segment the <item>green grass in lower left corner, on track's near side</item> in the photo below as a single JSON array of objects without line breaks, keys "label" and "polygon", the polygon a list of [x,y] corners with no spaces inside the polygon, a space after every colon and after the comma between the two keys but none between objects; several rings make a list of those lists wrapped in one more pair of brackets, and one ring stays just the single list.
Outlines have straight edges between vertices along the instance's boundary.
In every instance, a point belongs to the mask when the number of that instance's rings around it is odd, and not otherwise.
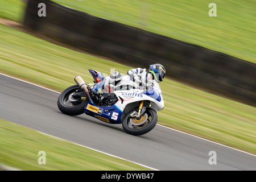
[{"label": "green grass in lower left corner, on track's near side", "polygon": [[[90,150],[0,119],[0,164],[25,171],[149,170],[126,160]],[[39,151],[46,164],[39,164]],[[40,160],[42,161],[42,160]]]}]

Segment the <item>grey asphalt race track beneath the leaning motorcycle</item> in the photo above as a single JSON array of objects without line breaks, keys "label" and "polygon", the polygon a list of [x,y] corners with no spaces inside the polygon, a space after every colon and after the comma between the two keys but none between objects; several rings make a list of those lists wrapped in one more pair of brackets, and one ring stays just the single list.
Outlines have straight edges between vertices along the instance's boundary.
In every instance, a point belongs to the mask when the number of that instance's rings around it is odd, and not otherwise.
[{"label": "grey asphalt race track beneath the leaning motorcycle", "polygon": [[[135,137],[122,125],[64,115],[57,107],[60,93],[28,82],[0,75],[0,88],[0,118],[131,162],[157,170],[256,170],[255,155],[167,127]],[[210,151],[216,164],[209,164]]]}]

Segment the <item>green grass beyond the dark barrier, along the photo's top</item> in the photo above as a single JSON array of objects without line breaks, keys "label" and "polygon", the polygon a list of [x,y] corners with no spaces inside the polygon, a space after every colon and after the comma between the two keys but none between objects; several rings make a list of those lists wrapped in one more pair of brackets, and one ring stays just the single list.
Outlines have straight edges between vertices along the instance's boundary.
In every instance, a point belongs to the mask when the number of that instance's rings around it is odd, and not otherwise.
[{"label": "green grass beyond the dark barrier, along the photo's top", "polygon": [[[213,2],[209,0],[53,1],[256,63],[255,1],[215,0],[216,17],[208,15],[209,3]],[[22,22],[26,3],[20,0],[2,0],[0,7],[0,17]]]}]

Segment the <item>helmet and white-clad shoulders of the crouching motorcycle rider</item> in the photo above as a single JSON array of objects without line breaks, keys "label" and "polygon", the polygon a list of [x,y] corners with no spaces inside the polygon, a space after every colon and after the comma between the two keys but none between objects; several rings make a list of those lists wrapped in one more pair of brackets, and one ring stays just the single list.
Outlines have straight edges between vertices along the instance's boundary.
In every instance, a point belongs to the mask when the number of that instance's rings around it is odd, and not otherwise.
[{"label": "helmet and white-clad shoulders of the crouching motorcycle rider", "polygon": [[166,75],[166,69],[161,64],[151,64],[148,72],[146,69],[135,68],[127,71],[127,75],[142,89],[150,89],[152,82],[151,80],[155,80],[156,82],[163,81],[164,76]]}]

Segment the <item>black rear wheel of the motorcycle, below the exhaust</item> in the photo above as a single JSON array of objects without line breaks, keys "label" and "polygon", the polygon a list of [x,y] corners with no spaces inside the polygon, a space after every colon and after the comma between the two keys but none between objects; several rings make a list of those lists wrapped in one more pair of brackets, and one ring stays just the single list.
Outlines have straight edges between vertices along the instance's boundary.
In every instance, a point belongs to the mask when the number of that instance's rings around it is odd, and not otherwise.
[{"label": "black rear wheel of the motorcycle, below the exhaust", "polygon": [[82,90],[78,85],[69,86],[69,88],[65,89],[57,100],[59,110],[67,115],[79,115],[84,113],[84,107],[88,102],[88,98],[77,96],[77,93],[81,92]]}]

